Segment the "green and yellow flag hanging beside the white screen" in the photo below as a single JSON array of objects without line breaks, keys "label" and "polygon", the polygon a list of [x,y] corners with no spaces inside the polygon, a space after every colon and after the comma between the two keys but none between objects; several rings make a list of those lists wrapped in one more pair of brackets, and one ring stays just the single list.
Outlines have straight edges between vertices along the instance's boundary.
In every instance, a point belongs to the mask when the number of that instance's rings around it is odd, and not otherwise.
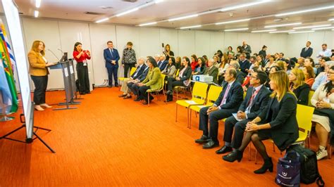
[{"label": "green and yellow flag hanging beside the white screen", "polygon": [[6,75],[6,81],[9,87],[9,90],[11,91],[11,112],[16,112],[18,110],[18,93],[16,91],[16,85],[14,82],[14,77],[13,77],[13,71],[12,71],[12,64],[11,64],[11,58],[8,53],[8,48],[7,48],[7,43],[5,41],[5,35],[4,35],[5,30],[3,27],[3,24],[1,22],[1,27],[0,27],[0,55],[1,55],[1,63],[2,66],[4,67],[4,72]]}]

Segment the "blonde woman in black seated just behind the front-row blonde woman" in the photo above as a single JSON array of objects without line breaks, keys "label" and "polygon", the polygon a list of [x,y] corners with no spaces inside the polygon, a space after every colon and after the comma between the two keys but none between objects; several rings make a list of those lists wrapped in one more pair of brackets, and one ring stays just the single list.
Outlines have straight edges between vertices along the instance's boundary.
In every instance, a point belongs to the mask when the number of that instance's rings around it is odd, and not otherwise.
[{"label": "blonde woman in black seated just behind the front-row blonde woman", "polygon": [[295,93],[297,103],[307,105],[309,103],[309,90],[311,87],[304,82],[304,72],[298,68],[291,70],[289,74],[290,90]]}]

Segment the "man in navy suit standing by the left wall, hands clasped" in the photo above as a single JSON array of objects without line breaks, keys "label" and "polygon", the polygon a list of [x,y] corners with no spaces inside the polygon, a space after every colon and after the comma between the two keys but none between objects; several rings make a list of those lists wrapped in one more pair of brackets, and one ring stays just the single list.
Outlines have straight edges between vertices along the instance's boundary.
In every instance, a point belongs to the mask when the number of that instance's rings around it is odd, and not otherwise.
[{"label": "man in navy suit standing by the left wall, hands clasped", "polygon": [[113,80],[115,81],[115,86],[118,87],[117,72],[120,56],[117,49],[113,49],[113,41],[108,41],[106,44],[108,48],[104,49],[103,55],[104,60],[106,60],[106,70],[108,70],[109,88],[113,86]]}]

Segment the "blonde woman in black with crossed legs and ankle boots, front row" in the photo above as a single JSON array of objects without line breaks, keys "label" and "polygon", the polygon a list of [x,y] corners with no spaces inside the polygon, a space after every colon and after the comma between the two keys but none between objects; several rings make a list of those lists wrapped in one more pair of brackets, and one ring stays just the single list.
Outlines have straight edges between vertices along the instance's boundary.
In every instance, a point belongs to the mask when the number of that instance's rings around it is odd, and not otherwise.
[{"label": "blonde woman in black with crossed legs and ankle boots, front row", "polygon": [[289,89],[289,78],[286,72],[271,73],[269,82],[273,93],[266,109],[254,120],[247,123],[245,137],[240,148],[223,156],[223,160],[234,162],[242,160],[242,153],[250,141],[256,150],[264,158],[264,165],[254,171],[255,174],[264,174],[267,170],[273,172],[273,162],[266,153],[266,147],[262,141],[271,138],[273,143],[281,150],[286,150],[294,143],[298,136],[298,124],[296,118],[297,99]]}]

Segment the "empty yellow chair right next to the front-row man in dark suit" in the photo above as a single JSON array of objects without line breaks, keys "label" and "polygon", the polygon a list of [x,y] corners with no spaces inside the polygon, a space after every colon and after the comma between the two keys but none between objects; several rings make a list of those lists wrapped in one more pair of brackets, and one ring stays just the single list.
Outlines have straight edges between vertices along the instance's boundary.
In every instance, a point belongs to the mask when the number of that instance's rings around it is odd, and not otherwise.
[{"label": "empty yellow chair right next to the front-row man in dark suit", "polygon": [[208,91],[208,98],[206,98],[206,104],[205,105],[191,105],[190,106],[190,108],[189,108],[190,109],[189,128],[192,127],[192,110],[194,110],[194,112],[199,112],[199,110],[201,110],[201,108],[210,107],[210,106],[214,105],[214,102],[218,99],[219,93],[221,93],[222,89],[223,89],[223,87],[221,87],[221,86],[211,85],[209,87],[209,91]]}]

